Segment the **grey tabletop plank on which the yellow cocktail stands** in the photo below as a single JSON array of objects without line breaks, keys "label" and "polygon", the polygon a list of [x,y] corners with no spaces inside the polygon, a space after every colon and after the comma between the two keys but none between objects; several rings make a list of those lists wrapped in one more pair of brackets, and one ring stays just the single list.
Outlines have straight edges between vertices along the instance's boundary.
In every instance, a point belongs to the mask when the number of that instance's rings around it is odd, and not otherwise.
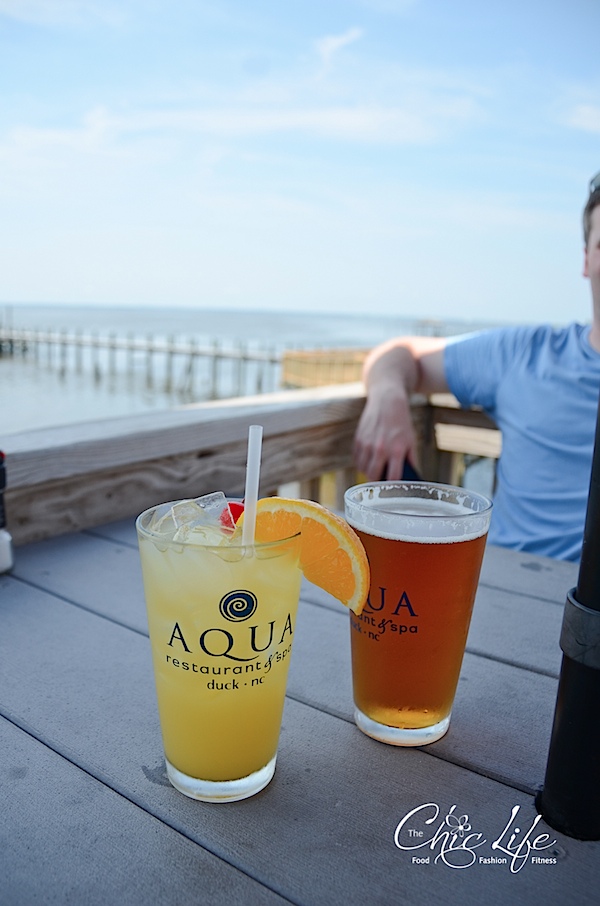
[{"label": "grey tabletop plank on which the yellow cocktail stands", "polygon": [[[443,898],[479,906],[483,892],[491,906],[595,902],[600,844],[549,832],[556,841],[546,851],[552,865],[529,860],[511,873],[508,859],[494,866],[477,861],[499,855],[491,844],[515,806],[519,826],[532,825],[530,796],[427,751],[376,743],[348,722],[294,701],[286,707],[275,778],[263,793],[226,807],[185,799],[164,782],[147,640],[41,592],[23,588],[21,595],[0,610],[5,714],[292,902],[430,906]],[[398,822],[428,802],[439,803],[440,824],[454,805],[482,834],[469,869],[434,863],[439,846],[416,851],[430,855],[425,865],[413,863],[415,851],[394,846]],[[427,830],[423,821],[416,826]],[[542,831],[548,831],[543,822]],[[133,858],[139,855],[136,840],[124,845]],[[68,852],[64,859],[68,865]]]}]

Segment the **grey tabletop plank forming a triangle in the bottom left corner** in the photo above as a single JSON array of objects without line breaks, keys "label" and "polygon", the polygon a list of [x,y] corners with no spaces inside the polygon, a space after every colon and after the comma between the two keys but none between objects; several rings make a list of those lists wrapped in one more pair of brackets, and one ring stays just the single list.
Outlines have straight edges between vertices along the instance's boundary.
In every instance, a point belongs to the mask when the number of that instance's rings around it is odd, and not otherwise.
[{"label": "grey tabletop plank forming a triangle in the bottom left corner", "polygon": [[288,902],[3,718],[0,785],[5,906]]}]

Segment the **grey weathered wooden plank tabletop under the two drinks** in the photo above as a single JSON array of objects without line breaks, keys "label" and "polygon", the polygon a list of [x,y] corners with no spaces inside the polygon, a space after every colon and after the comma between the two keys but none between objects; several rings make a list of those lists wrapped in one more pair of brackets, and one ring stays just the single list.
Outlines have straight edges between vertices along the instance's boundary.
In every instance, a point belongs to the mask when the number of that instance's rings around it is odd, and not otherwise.
[{"label": "grey weathered wooden plank tabletop under the two drinks", "polygon": [[348,614],[306,584],[275,777],[204,804],[166,779],[133,521],[16,554],[0,577],[2,906],[598,902],[600,843],[534,805],[573,564],[488,548],[450,731],[419,749],[356,729]]}]

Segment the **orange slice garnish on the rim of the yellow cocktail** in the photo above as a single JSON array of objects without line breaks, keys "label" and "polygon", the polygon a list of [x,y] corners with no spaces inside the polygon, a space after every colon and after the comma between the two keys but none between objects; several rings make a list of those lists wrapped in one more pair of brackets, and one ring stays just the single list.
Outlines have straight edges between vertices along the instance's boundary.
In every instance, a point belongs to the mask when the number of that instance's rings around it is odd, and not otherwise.
[{"label": "orange slice garnish on the rim of the yellow cocktail", "polygon": [[[236,524],[241,532],[244,514]],[[301,532],[300,568],[309,582],[360,613],[369,593],[369,562],[354,529],[312,500],[263,497],[256,507],[255,538],[279,541]]]}]

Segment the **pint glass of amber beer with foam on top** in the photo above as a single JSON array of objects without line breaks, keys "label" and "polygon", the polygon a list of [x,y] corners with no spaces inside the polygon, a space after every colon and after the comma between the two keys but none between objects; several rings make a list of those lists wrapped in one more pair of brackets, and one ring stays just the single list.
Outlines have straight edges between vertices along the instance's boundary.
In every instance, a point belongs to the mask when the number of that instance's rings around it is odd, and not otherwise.
[{"label": "pint glass of amber beer with foam on top", "polygon": [[355,720],[374,739],[420,746],[450,724],[492,504],[463,488],[376,481],[346,491],[371,567],[350,614]]}]

